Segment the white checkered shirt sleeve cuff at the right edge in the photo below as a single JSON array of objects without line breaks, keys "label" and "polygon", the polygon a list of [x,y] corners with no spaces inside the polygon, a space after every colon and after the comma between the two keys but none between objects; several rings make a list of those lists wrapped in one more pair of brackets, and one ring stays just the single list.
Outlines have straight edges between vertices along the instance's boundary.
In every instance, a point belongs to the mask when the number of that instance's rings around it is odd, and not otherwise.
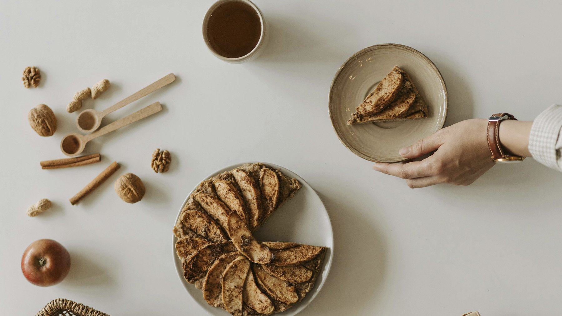
[{"label": "white checkered shirt sleeve cuff at the right edge", "polygon": [[537,116],[529,135],[529,152],[547,167],[562,171],[562,105],[554,104]]}]

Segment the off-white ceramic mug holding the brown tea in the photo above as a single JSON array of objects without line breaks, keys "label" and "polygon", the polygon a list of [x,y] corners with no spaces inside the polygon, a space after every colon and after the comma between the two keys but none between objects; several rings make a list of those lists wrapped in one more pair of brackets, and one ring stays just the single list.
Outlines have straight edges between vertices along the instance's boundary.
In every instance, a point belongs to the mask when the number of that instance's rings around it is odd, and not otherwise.
[{"label": "off-white ceramic mug holding the brown tea", "polygon": [[[224,4],[226,2],[242,2],[244,4],[247,4],[248,6],[250,6],[254,11],[256,11],[257,16],[260,19],[260,24],[261,24],[261,33],[260,33],[260,39],[258,40],[256,46],[247,54],[245,54],[244,56],[240,56],[240,57],[236,57],[236,58],[228,58],[228,57],[224,57],[221,54],[217,53],[215,51],[214,48],[212,48],[210,42],[209,42],[209,36],[207,34],[207,26],[209,25],[209,19],[212,15],[212,13],[216,10],[217,7],[219,7],[221,4]],[[257,56],[259,56],[265,49],[268,39],[269,39],[269,28],[268,25],[264,19],[264,15],[261,13],[260,9],[257,8],[257,6],[255,4],[253,4],[250,0],[219,0],[217,2],[215,2],[210,8],[209,11],[207,11],[207,14],[205,15],[205,18],[203,19],[203,39],[205,40],[205,44],[207,45],[207,48],[209,48],[209,51],[211,51],[212,54],[214,54],[217,58],[225,61],[225,62],[229,62],[229,63],[243,63],[243,62],[248,62],[251,61],[253,59],[255,59]]]}]

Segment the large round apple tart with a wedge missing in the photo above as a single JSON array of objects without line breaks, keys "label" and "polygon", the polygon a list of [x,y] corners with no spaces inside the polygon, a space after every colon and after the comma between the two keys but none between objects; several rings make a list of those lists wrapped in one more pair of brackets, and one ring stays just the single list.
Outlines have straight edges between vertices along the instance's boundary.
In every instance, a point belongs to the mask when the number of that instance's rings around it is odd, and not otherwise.
[{"label": "large round apple tart with a wedge missing", "polygon": [[262,163],[211,177],[189,196],[174,226],[184,278],[211,306],[232,315],[269,315],[300,302],[314,287],[326,248],[260,242],[259,227],[300,189]]}]

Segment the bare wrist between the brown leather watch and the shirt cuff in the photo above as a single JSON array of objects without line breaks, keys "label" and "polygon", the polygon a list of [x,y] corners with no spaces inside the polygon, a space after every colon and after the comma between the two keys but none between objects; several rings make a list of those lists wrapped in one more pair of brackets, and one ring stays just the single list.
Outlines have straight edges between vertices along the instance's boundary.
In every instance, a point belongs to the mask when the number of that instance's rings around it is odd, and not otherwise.
[{"label": "bare wrist between the brown leather watch and the shirt cuff", "polygon": [[529,134],[533,121],[506,120],[500,124],[500,143],[511,153],[531,157],[529,153]]}]

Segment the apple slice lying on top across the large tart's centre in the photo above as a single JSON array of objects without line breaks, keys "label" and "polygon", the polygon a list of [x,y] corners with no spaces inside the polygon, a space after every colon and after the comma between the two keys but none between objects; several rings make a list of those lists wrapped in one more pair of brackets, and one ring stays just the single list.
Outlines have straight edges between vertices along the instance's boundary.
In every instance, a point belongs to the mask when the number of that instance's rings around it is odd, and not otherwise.
[{"label": "apple slice lying on top across the large tart's centre", "polygon": [[257,242],[246,223],[236,212],[232,212],[228,216],[228,235],[236,249],[248,257],[251,262],[270,263],[273,260],[271,250]]}]

